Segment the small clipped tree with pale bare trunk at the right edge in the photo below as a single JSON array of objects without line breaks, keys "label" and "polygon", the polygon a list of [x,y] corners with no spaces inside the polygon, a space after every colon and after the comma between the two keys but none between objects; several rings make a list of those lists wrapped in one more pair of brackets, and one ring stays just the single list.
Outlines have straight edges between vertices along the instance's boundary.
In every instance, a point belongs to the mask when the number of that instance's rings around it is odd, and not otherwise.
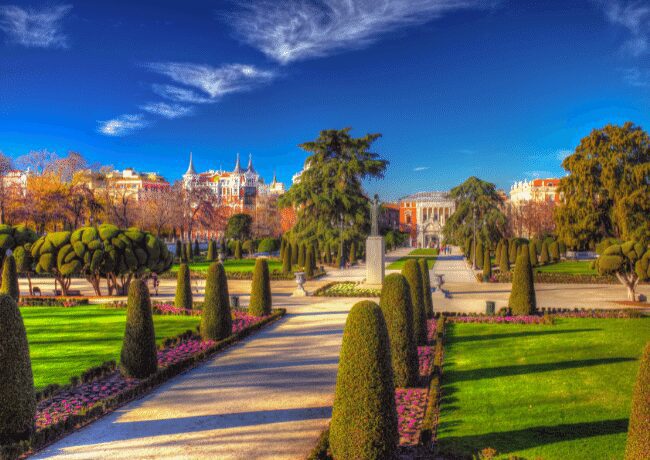
[{"label": "small clipped tree with pale bare trunk at the right edge", "polygon": [[636,287],[650,279],[650,247],[640,241],[607,239],[597,246],[600,254],[594,268],[601,275],[613,274],[627,288],[627,298],[636,301]]}]

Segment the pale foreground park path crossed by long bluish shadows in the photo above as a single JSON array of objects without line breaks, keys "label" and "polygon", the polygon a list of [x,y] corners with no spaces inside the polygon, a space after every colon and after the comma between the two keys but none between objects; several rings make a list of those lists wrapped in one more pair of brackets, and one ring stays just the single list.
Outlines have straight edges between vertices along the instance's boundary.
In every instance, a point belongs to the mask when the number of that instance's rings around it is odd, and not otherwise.
[{"label": "pale foreground park path crossed by long bluish shadows", "polygon": [[278,323],[35,458],[304,459],[331,417],[357,300],[274,298]]}]

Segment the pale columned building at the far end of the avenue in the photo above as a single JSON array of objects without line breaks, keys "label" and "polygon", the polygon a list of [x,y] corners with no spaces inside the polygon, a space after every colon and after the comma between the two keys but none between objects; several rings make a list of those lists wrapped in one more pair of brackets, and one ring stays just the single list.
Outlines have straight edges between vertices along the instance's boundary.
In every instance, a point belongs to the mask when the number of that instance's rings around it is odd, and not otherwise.
[{"label": "pale columned building at the far end of the avenue", "polygon": [[400,230],[412,247],[435,247],[444,239],[445,222],[456,210],[447,192],[419,192],[399,200]]}]

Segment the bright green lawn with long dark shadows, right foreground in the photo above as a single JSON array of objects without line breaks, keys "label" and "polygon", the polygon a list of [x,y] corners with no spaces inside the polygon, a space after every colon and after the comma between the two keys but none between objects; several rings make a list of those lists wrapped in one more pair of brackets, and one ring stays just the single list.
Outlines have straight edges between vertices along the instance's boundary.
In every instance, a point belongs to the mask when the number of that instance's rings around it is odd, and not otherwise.
[{"label": "bright green lawn with long dark shadows, right foreground", "polygon": [[647,319],[449,326],[439,445],[465,458],[622,459]]}]

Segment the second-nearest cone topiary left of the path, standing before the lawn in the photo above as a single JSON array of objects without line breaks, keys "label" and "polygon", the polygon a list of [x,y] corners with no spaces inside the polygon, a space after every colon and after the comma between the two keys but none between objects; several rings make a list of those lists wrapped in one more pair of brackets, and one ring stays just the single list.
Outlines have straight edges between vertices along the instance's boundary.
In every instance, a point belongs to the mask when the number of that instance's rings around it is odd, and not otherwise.
[{"label": "second-nearest cone topiary left of the path, standing before the lawn", "polygon": [[158,369],[149,289],[139,279],[129,286],[120,365],[126,375],[136,378],[148,377]]}]

